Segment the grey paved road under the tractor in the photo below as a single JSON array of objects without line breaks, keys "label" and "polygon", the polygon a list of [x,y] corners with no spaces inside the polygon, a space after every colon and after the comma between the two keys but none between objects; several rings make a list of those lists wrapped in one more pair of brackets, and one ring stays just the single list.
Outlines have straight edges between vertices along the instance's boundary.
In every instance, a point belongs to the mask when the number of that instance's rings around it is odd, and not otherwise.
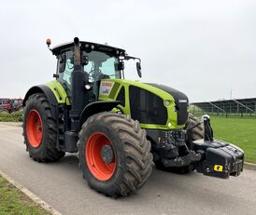
[{"label": "grey paved road under the tractor", "polygon": [[154,169],[138,194],[112,199],[88,187],[76,155],[52,164],[34,162],[19,127],[0,124],[0,146],[0,169],[63,214],[256,214],[256,171],[220,180]]}]

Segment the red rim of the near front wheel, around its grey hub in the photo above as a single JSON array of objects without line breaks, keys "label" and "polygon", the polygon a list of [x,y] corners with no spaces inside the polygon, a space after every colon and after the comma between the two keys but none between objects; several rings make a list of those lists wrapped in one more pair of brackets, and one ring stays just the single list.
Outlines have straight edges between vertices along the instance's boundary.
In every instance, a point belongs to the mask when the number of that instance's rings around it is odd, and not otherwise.
[{"label": "red rim of the near front wheel, around its grey hub", "polygon": [[86,163],[92,175],[99,181],[109,180],[116,169],[116,158],[111,163],[107,164],[101,156],[102,147],[105,145],[111,145],[111,141],[103,133],[93,133],[86,143],[85,155]]}]

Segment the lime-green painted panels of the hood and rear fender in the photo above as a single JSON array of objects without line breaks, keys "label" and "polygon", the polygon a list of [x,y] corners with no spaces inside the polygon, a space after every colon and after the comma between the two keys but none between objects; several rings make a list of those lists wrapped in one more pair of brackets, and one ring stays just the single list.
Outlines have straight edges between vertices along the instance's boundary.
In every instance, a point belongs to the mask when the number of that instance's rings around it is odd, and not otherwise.
[{"label": "lime-green painted panels of the hood and rear fender", "polygon": [[[153,94],[159,96],[163,102],[164,106],[167,110],[168,114],[168,119],[166,120],[165,125],[154,125],[154,124],[140,124],[141,128],[149,128],[149,129],[178,129],[178,128],[184,128],[184,125],[178,125],[177,124],[177,112],[175,112],[175,100],[174,98],[164,90],[158,88],[158,87],[153,87],[148,84],[144,84],[138,81],[130,81],[130,80],[125,80],[125,79],[104,79],[102,82],[112,83],[110,92],[107,93],[107,95],[101,94],[99,92],[99,101],[116,101],[118,94],[121,90],[121,87],[124,87],[125,91],[125,105],[121,106],[118,105],[117,108],[113,109],[113,111],[121,110],[123,114],[131,114],[130,111],[130,103],[129,103],[129,87],[130,86],[135,86],[135,87],[140,87],[145,90],[148,90],[149,92],[152,92]],[[59,81],[54,80],[51,81],[50,83],[47,84],[48,87],[52,90],[54,93],[56,100],[58,103],[66,103],[67,105],[70,105],[70,100],[67,97],[67,94],[64,90],[64,87],[60,84]],[[133,95],[131,95],[133,96]],[[165,101],[169,101],[169,105],[165,104]]]}]

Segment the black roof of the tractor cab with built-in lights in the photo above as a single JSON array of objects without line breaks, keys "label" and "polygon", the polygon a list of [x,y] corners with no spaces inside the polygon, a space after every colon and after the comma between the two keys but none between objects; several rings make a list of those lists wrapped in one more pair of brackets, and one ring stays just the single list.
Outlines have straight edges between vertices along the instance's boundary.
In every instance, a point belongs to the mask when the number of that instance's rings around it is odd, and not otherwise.
[{"label": "black roof of the tractor cab with built-in lights", "polygon": [[[64,43],[61,44],[59,46],[53,47],[51,48],[52,54],[53,55],[60,55],[64,49],[66,48],[72,48],[74,47],[74,42],[68,42],[68,43]],[[125,56],[125,50],[118,48],[118,47],[110,47],[107,45],[102,45],[102,44],[96,44],[96,43],[92,43],[92,42],[86,42],[86,41],[80,41],[80,48],[81,50],[96,50],[96,51],[102,51],[102,52],[106,52],[109,54],[114,54],[114,55],[119,55],[119,56]]]}]

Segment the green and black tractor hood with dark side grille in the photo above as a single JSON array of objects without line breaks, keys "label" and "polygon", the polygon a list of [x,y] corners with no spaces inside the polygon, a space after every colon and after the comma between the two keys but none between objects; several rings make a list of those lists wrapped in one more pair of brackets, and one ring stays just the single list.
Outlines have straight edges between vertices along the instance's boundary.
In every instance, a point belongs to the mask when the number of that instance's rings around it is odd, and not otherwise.
[{"label": "green and black tractor hood with dark side grille", "polygon": [[121,101],[119,109],[142,128],[183,128],[188,119],[188,97],[164,85],[125,79],[100,82],[99,101]]}]

